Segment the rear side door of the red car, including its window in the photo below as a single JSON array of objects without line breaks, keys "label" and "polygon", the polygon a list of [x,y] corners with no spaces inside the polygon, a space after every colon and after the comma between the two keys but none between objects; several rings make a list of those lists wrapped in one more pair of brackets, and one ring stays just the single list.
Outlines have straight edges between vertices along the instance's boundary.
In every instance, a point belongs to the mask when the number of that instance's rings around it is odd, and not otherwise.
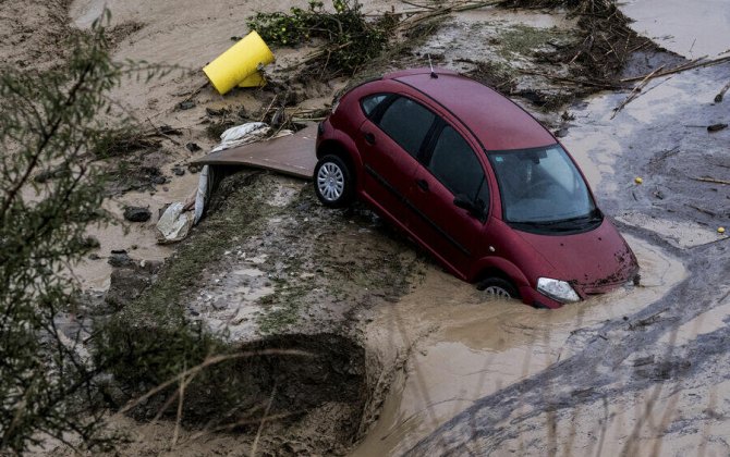
[{"label": "rear side door of the red car, including its window", "polygon": [[375,205],[410,226],[407,195],[436,115],[407,97],[390,94],[377,100],[379,96],[361,100],[368,115],[355,139],[365,166],[363,189]]}]

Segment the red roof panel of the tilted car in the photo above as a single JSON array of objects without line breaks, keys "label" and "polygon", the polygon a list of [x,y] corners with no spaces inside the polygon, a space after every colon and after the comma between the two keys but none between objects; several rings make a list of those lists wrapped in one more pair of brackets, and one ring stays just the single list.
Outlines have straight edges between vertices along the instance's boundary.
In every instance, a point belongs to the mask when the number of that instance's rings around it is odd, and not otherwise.
[{"label": "red roof panel of the tilted car", "polygon": [[457,72],[413,69],[390,73],[393,79],[426,95],[454,114],[487,150],[526,149],[556,144],[530,113],[498,91]]}]

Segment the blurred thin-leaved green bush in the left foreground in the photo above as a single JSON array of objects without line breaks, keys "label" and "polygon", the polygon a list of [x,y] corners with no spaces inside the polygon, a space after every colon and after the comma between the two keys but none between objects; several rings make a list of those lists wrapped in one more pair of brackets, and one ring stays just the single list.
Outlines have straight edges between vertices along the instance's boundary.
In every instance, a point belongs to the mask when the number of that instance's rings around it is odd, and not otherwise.
[{"label": "blurred thin-leaved green bush in the left foreground", "polygon": [[59,316],[78,292],[69,267],[92,248],[86,227],[107,220],[89,159],[113,143],[105,113],[126,124],[107,92],[144,65],[112,62],[99,24],[69,40],[74,52],[50,71],[0,70],[0,449],[15,453],[49,435],[111,440],[93,409],[98,368],[77,350],[84,333]]}]

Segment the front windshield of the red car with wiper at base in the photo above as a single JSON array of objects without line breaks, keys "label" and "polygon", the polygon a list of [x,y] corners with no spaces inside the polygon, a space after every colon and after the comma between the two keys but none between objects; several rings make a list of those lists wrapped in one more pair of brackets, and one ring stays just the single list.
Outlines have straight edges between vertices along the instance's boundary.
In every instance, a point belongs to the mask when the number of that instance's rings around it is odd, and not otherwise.
[{"label": "front windshield of the red car with wiper at base", "polygon": [[487,155],[497,174],[507,222],[575,230],[603,220],[585,181],[560,145]]}]

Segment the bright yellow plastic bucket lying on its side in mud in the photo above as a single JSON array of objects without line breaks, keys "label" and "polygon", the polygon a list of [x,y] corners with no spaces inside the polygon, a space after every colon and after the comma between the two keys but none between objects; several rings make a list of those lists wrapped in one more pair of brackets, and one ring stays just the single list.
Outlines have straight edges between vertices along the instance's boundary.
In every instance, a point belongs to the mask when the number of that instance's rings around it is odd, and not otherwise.
[{"label": "bright yellow plastic bucket lying on its side in mud", "polygon": [[271,50],[254,30],[207,64],[203,72],[218,94],[223,95],[257,73],[259,65],[271,62]]}]

